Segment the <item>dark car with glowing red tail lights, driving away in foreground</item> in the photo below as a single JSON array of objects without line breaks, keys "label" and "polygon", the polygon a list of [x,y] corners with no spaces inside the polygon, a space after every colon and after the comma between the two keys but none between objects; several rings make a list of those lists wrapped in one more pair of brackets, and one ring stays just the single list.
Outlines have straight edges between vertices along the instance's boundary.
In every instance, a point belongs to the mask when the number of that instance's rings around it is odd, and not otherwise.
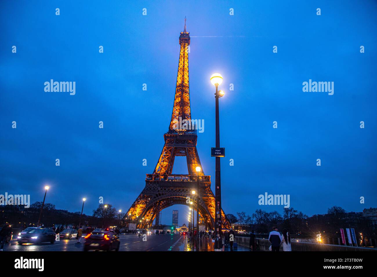
[{"label": "dark car with glowing red tail lights, driving away in foreground", "polygon": [[89,250],[119,250],[119,237],[111,231],[92,232],[85,236],[84,251]]}]

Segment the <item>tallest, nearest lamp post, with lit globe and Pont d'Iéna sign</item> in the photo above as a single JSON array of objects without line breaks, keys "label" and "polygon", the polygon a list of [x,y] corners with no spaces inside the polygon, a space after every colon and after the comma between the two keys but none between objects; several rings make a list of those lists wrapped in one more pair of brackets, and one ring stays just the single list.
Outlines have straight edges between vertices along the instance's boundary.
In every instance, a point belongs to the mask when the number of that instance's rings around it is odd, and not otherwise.
[{"label": "tallest, nearest lamp post, with lit globe and Pont d'I\u00e9na sign", "polygon": [[[222,83],[222,76],[219,73],[212,74],[211,83],[216,87],[215,102],[216,102],[216,148],[220,147],[220,130],[219,130],[219,98],[224,96],[224,91],[218,90]],[[221,219],[221,180],[220,180],[220,157],[216,157],[215,167],[215,248],[217,234],[220,235],[220,242],[222,241],[222,219]]]}]

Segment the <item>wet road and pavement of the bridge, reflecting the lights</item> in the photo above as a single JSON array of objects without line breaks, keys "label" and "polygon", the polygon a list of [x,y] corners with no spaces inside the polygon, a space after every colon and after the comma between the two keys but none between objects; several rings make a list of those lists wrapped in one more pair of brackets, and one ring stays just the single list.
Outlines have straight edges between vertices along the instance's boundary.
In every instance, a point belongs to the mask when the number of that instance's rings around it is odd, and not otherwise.
[{"label": "wet road and pavement of the bridge, reflecting the lights", "polygon": [[[149,235],[147,240],[143,241],[143,237],[138,237],[135,234],[120,235],[119,251],[192,251],[196,250],[196,245],[192,243],[187,236],[180,236],[179,234],[159,234]],[[18,244],[17,240],[12,240],[11,243],[6,243],[4,251],[83,251],[84,239],[77,243],[76,239],[60,240],[51,243],[41,244]],[[229,245],[225,245],[225,251],[230,251]],[[199,251],[213,251],[213,243],[208,240],[208,237],[202,237],[199,243]],[[234,251],[248,251],[243,246],[238,246]]]}]

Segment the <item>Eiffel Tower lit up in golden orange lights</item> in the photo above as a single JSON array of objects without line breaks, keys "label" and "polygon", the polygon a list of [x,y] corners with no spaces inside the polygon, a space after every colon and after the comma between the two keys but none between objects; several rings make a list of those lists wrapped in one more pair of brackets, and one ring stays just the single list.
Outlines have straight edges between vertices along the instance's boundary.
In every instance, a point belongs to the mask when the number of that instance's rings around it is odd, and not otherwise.
[{"label": "Eiffel Tower lit up in golden orange lights", "polygon": [[[189,93],[189,57],[190,32],[179,35],[179,63],[173,113],[168,132],[164,134],[165,145],[152,174],[147,174],[143,191],[133,202],[125,217],[127,221],[136,223],[136,228],[151,228],[153,220],[159,220],[160,211],[175,204],[196,207],[197,199],[192,196],[199,178],[199,214],[205,225],[214,230],[215,196],[211,191],[211,176],[204,175],[198,150],[196,149],[197,133],[195,124],[191,129],[182,127],[179,122],[191,122]],[[187,120],[187,121],[185,121]],[[187,127],[187,126],[186,126]],[[181,129],[180,129],[181,128]],[[172,174],[175,156],[185,156],[189,174]],[[201,167],[202,168],[202,167]],[[197,195],[197,194],[196,194]],[[223,227],[229,228],[224,211],[222,211]]]}]

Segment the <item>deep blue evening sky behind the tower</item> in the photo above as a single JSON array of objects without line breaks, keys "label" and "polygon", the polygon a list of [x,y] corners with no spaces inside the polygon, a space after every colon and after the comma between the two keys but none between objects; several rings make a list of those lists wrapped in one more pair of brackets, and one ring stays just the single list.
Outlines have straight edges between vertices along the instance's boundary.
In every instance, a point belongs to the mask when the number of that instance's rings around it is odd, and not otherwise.
[{"label": "deep blue evening sky behind the tower", "polygon": [[[79,211],[86,197],[91,214],[103,196],[128,210],[164,145],[186,16],[192,118],[204,119],[197,147],[212,188],[209,77],[224,77],[225,213],[281,213],[258,205],[265,192],[290,194],[291,207],[309,216],[376,207],[376,13],[372,0],[2,1],[0,194],[30,194],[33,203],[49,184],[46,202],[59,209]],[[75,81],[76,94],[44,92],[50,79]],[[303,92],[309,79],[334,82],[334,95]],[[185,158],[173,173],[187,174]],[[187,223],[186,206],[163,210],[162,223],[176,208]]]}]

